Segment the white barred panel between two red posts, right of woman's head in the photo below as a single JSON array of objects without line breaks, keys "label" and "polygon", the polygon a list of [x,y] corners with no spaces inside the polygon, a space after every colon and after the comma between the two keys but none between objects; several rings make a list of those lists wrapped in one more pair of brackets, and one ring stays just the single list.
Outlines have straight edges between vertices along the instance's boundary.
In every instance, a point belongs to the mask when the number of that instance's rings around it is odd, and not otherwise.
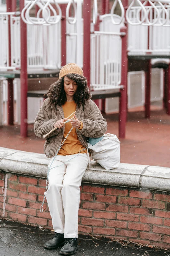
[{"label": "white barred panel between two red posts, right of woman's head", "polygon": [[120,35],[121,33],[98,31],[91,35],[91,87],[93,90],[120,88],[122,52]]}]

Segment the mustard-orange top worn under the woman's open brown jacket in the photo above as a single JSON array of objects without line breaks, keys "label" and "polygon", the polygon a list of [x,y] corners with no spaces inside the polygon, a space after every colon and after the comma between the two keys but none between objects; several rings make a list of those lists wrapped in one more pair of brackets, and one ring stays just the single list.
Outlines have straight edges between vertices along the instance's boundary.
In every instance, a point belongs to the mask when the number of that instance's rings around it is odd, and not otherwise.
[{"label": "mustard-orange top worn under the woman's open brown jacket", "polygon": [[[62,108],[64,112],[64,117],[67,118],[74,111],[76,111],[76,103],[74,101],[66,102],[64,105],[62,105]],[[72,117],[73,116],[71,116],[70,118]],[[71,128],[72,128],[71,122],[68,122],[67,124],[65,124],[64,138],[62,142],[64,141],[65,137],[67,136]],[[81,122],[81,126],[79,129],[81,130],[82,128],[83,128],[83,123]],[[67,139],[65,140],[63,146],[59,150],[58,155],[66,156],[66,155],[77,154],[82,149],[85,149],[85,147],[78,140],[76,128],[73,128],[71,133],[68,135]],[[84,151],[81,151],[80,153],[87,153],[87,149]]]}]

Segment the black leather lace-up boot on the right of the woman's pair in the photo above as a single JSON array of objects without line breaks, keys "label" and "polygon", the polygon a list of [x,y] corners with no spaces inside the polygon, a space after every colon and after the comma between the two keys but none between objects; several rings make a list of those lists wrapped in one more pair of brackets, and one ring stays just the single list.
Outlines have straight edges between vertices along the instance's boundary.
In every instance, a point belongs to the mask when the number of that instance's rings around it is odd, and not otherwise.
[{"label": "black leather lace-up boot on the right of the woman's pair", "polygon": [[78,247],[78,240],[74,238],[66,238],[64,246],[60,249],[59,253],[62,255],[72,255],[76,252]]}]

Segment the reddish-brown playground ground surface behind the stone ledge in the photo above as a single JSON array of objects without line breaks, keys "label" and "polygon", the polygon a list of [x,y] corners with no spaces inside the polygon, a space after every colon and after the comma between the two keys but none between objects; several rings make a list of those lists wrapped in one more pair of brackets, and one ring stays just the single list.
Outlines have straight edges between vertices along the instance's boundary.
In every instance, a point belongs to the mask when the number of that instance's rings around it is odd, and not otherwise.
[{"label": "reddish-brown playground ground surface behind the stone ledge", "polygon": [[[162,109],[151,107],[151,118],[144,118],[143,108],[129,112],[126,138],[120,139],[121,162],[170,167],[170,116]],[[108,133],[118,136],[118,114],[105,116]],[[36,137],[33,124],[28,137],[20,136],[20,126],[0,127],[1,147],[44,153],[44,139]]]}]

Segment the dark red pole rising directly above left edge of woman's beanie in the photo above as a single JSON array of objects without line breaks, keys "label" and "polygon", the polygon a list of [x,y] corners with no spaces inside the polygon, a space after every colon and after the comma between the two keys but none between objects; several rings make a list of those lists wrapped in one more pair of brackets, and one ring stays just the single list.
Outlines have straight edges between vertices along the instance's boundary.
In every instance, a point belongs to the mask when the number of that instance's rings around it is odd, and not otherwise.
[{"label": "dark red pole rising directly above left edge of woman's beanie", "polygon": [[61,19],[61,66],[66,65],[66,4],[61,5],[62,19]]}]

